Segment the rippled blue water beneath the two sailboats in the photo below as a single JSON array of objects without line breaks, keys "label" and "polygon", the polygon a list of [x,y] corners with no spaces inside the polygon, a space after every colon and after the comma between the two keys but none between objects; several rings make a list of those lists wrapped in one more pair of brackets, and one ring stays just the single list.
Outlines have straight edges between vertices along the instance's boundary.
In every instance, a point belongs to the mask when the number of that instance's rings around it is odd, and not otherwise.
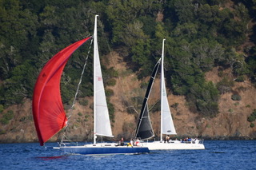
[{"label": "rippled blue water beneath the two sailboats", "polygon": [[256,169],[256,140],[205,140],[204,144],[205,150],[110,156],[66,155],[39,144],[0,144],[0,169]]}]

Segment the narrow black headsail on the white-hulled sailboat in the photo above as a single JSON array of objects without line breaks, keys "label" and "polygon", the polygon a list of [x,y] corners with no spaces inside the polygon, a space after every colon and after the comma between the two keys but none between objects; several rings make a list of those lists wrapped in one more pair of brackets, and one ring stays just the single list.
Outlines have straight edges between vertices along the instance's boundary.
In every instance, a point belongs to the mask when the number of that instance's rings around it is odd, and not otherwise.
[{"label": "narrow black headsail on the white-hulled sailboat", "polygon": [[154,131],[153,131],[151,121],[150,121],[150,115],[149,115],[147,101],[150,96],[150,91],[152,89],[152,85],[154,83],[154,78],[158,72],[158,67],[160,65],[160,61],[161,61],[161,58],[158,60],[157,64],[154,65],[154,70],[151,74],[150,82],[146,89],[146,95],[145,95],[145,98],[143,101],[142,110],[141,110],[141,113],[139,116],[139,121],[138,121],[137,129],[136,129],[136,133],[135,133],[135,137],[142,139],[142,140],[146,140],[146,139],[149,139],[150,137],[154,136]]}]

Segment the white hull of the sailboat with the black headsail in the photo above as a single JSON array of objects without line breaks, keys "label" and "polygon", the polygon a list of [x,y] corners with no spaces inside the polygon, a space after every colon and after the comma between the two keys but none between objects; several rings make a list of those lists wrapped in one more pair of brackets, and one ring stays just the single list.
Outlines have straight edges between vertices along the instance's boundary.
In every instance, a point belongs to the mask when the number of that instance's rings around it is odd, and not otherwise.
[{"label": "white hull of the sailboat with the black headsail", "polygon": [[182,143],[178,140],[171,140],[170,143],[163,141],[145,142],[143,146],[148,147],[150,150],[182,150],[182,149],[205,149],[204,144],[198,143]]}]

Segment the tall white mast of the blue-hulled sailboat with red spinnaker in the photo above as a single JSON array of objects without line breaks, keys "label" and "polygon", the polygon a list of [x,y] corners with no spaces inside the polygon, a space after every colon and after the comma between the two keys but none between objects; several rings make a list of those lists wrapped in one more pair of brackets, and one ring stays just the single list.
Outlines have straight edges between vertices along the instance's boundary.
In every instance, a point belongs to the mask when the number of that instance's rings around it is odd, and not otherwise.
[{"label": "tall white mast of the blue-hulled sailboat with red spinnaker", "polygon": [[94,22],[94,144],[96,144],[96,77],[95,77],[95,70],[96,70],[96,57],[95,53],[97,53],[98,50],[98,38],[97,38],[97,17],[98,15],[95,15],[95,22]]}]

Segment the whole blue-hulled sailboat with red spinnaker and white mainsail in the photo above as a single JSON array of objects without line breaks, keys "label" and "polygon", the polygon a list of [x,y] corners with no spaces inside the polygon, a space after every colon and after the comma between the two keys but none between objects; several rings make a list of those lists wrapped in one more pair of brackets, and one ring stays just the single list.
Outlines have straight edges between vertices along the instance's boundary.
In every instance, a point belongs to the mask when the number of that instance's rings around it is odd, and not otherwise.
[{"label": "whole blue-hulled sailboat with red spinnaker and white mainsail", "polygon": [[124,154],[149,152],[143,146],[120,146],[115,143],[96,143],[97,136],[112,136],[110,117],[106,105],[106,95],[102,79],[102,70],[98,54],[97,17],[95,16],[94,36],[82,39],[62,49],[50,59],[39,73],[34,87],[33,117],[38,140],[44,145],[52,136],[66,128],[69,118],[62,104],[60,81],[66,62],[82,44],[94,39],[94,143],[85,145],[66,145],[61,142],[58,147],[62,152],[78,154]]}]

